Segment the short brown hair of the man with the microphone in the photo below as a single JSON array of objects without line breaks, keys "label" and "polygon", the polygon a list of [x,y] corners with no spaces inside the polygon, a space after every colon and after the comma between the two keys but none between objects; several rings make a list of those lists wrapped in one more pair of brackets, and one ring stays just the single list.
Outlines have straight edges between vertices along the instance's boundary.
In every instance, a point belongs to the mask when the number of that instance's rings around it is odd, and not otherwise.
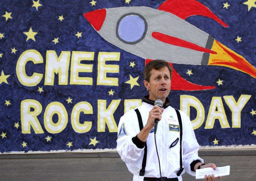
[{"label": "short brown hair of the man with the microphone", "polygon": [[148,64],[145,66],[143,71],[144,79],[148,82],[150,82],[150,76],[152,69],[159,70],[163,67],[167,67],[170,71],[170,79],[171,79],[171,72],[173,71],[173,68],[168,64],[165,60],[153,60],[151,62],[148,62]]}]

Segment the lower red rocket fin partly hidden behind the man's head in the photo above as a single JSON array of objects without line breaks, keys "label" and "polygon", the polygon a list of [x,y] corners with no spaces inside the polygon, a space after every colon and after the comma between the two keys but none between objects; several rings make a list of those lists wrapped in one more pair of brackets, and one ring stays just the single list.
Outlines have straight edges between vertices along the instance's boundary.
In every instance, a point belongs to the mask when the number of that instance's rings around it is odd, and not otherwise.
[{"label": "lower red rocket fin partly hidden behind the man's head", "polygon": [[[151,59],[146,59],[145,64],[152,61]],[[169,65],[173,68],[173,64],[169,63]],[[197,85],[191,82],[188,82],[186,79],[182,78],[177,71],[173,68],[173,74],[171,78],[171,90],[208,90],[215,89],[215,86],[203,86]]]}]

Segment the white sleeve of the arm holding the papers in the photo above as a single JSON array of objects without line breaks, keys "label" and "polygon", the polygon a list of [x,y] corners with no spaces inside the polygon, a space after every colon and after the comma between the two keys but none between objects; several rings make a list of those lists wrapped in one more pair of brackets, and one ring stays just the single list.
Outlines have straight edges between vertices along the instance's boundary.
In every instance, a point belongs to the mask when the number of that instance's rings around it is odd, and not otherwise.
[{"label": "white sleeve of the arm holding the papers", "polygon": [[199,144],[190,119],[185,113],[181,112],[181,114],[183,120],[183,165],[188,174],[196,176],[196,172],[191,171],[190,164],[195,160],[200,160],[201,162],[204,162],[204,160],[198,157]]}]

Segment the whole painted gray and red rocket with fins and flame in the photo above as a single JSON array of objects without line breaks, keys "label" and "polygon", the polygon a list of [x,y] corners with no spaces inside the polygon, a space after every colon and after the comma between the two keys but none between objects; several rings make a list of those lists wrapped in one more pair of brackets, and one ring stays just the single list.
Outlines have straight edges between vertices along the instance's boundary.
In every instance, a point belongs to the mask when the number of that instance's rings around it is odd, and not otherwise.
[{"label": "whole painted gray and red rocket with fins and flame", "polygon": [[[184,21],[201,15],[228,27],[208,7],[196,0],[167,0],[158,7],[116,7],[85,13],[85,18],[108,42],[146,59],[164,59],[176,64],[218,65],[256,78],[256,69],[241,55]],[[170,65],[172,66],[172,63]],[[186,81],[175,70],[172,90],[205,90]]]}]

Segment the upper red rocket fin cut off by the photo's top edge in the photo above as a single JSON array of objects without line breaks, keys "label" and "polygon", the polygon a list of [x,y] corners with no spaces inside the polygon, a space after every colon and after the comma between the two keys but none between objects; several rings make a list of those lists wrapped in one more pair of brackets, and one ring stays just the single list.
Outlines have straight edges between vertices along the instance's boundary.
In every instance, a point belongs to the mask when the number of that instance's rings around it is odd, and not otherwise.
[{"label": "upper red rocket fin cut off by the photo's top edge", "polygon": [[158,10],[167,11],[185,20],[187,17],[201,15],[209,17],[224,27],[228,27],[208,7],[196,0],[167,0],[158,7]]}]

